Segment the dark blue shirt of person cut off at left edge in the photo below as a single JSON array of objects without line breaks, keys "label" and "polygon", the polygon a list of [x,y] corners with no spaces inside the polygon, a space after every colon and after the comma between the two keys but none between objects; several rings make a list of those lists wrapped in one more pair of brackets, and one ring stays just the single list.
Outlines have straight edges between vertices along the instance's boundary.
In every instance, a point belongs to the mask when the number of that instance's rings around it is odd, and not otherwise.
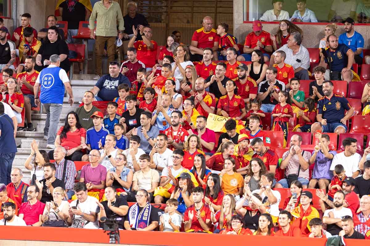
[{"label": "dark blue shirt of person cut off at left edge", "polygon": [[[7,114],[0,115],[0,153],[15,153],[17,152],[16,140],[14,139],[13,121]],[[3,165],[3,163],[1,163]],[[6,173],[4,173],[4,176]]]}]

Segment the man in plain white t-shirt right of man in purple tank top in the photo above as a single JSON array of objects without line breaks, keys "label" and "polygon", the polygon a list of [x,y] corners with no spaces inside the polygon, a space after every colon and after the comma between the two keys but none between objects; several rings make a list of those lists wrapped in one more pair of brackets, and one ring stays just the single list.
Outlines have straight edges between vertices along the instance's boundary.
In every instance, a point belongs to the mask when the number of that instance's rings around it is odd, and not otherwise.
[{"label": "man in plain white t-shirt right of man in purple tank top", "polygon": [[344,151],[334,156],[330,170],[334,171],[337,164],[342,164],[344,171],[346,172],[346,176],[356,178],[361,174],[359,169],[361,155],[356,153],[357,140],[354,138],[346,138],[343,140],[342,145],[344,147]]}]

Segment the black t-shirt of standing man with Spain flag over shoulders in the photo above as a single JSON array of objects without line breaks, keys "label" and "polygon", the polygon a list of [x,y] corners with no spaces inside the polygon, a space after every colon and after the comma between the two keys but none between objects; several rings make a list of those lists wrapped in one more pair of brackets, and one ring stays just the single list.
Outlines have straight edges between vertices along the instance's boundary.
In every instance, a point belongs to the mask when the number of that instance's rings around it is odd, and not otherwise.
[{"label": "black t-shirt of standing man with Spain flag over shoulders", "polygon": [[63,8],[61,15],[63,21],[68,21],[68,29],[78,29],[80,21],[85,21],[85,6],[78,0],[63,1],[59,7]]}]

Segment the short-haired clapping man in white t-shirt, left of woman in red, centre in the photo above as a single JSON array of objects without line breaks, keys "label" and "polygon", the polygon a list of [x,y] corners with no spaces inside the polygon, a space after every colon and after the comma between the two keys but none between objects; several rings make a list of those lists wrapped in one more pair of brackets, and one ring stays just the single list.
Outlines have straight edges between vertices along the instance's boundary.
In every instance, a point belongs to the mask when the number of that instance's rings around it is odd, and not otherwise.
[{"label": "short-haired clapping man in white t-shirt, left of woman in red, centre", "polygon": [[165,134],[160,133],[157,136],[157,142],[154,143],[154,148],[150,152],[149,167],[158,171],[159,176],[162,175],[162,170],[172,166],[172,150],[167,148],[168,138]]}]

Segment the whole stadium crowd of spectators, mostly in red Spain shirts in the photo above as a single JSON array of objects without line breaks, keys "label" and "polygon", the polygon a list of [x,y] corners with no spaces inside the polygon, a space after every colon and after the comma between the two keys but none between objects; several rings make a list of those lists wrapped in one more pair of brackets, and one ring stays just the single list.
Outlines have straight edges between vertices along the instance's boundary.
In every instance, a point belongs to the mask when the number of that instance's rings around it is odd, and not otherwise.
[{"label": "whole stadium crowd of spectators, mostly in red Spain shirts", "polygon": [[[311,73],[303,32],[290,22],[316,20],[305,0],[297,0],[290,19],[283,0],[273,0],[260,20],[278,16],[279,31],[272,35],[254,21],[242,50],[228,24],[207,16],[190,45],[174,31],[158,58],[152,29],[134,2],[123,17],[115,1],[93,8],[74,1],[78,21],[61,2],[62,18],[70,20],[65,41],[54,15],[38,33],[27,13],[11,39],[0,28],[0,225],[94,229],[106,217],[122,218],[118,226],[125,230],[370,239],[370,147],[362,151],[364,139],[348,136],[342,149],[332,148],[354,124],[354,107],[333,92],[337,80],[354,83],[353,64],[363,60],[364,39],[353,18],[343,18],[339,38],[335,24],[326,26],[320,64]],[[64,92],[71,105],[75,96],[67,43],[77,42],[76,23],[84,20],[100,60],[97,83],[58,129]],[[117,38],[128,41],[122,64],[114,60]],[[104,50],[107,75],[101,74]],[[308,93],[300,90],[300,80],[310,78]],[[361,103],[367,115],[369,83]],[[14,138],[36,131],[31,109],[40,104],[50,151],[31,143],[26,184],[23,171],[12,167]],[[212,117],[222,119],[221,133],[213,131]],[[27,124],[17,128],[22,121]],[[305,133],[312,145],[303,144]]]}]

